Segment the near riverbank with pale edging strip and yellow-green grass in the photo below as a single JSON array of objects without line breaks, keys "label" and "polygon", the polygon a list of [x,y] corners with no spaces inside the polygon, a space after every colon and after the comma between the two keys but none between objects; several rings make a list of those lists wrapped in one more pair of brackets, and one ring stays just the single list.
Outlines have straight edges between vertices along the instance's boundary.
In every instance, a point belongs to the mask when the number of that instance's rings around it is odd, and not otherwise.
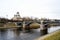
[{"label": "near riverbank with pale edging strip and yellow-green grass", "polygon": [[37,38],[36,40],[60,40],[60,30]]}]

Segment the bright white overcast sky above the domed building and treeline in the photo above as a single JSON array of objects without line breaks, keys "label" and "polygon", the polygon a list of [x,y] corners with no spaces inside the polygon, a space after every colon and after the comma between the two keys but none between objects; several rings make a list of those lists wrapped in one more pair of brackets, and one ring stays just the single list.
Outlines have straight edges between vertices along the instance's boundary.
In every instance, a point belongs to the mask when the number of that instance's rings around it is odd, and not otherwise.
[{"label": "bright white overcast sky above the domed building and treeline", "polygon": [[16,12],[21,17],[60,19],[60,0],[0,0],[0,17],[12,18]]}]

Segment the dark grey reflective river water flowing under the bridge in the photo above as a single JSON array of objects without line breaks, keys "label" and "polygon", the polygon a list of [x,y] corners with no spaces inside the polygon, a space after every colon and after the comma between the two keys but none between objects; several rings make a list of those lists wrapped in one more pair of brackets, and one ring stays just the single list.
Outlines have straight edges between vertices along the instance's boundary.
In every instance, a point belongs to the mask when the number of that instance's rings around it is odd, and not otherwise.
[{"label": "dark grey reflective river water flowing under the bridge", "polygon": [[[48,28],[48,33],[60,29],[60,26]],[[29,33],[23,33],[19,30],[7,29],[0,30],[0,40],[34,40],[40,36],[40,29],[33,29]]]}]

